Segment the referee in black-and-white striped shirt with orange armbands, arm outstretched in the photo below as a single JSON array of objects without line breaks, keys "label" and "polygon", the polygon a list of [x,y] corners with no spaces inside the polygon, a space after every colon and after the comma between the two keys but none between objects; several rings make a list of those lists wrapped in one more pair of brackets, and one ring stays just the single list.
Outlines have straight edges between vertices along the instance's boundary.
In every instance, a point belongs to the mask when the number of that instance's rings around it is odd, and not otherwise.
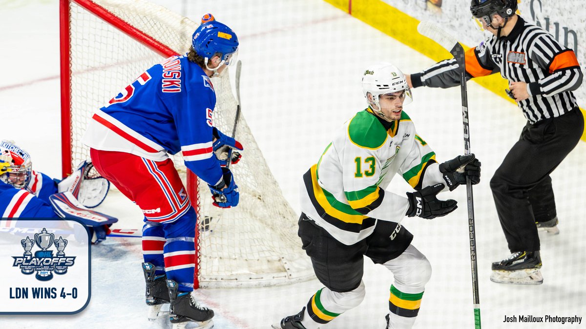
[{"label": "referee in black-and-white striped shirt with orange armbands, arm outstretched", "polygon": [[[583,74],[571,49],[515,12],[516,0],[472,0],[472,15],[493,34],[466,52],[466,77],[500,72],[527,119],[519,141],[490,180],[496,211],[512,255],[492,264],[490,279],[539,285],[537,228],[557,233],[550,173],[577,145],[584,118],[573,90]],[[460,84],[455,59],[407,76],[410,87]],[[537,224],[537,225],[536,225]]]}]

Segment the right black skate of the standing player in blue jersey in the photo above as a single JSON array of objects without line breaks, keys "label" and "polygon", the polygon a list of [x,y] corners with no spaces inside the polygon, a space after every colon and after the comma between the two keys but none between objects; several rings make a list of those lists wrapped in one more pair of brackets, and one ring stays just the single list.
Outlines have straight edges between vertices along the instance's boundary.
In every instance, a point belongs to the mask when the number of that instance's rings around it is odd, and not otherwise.
[{"label": "right black skate of the standing player in blue jersey", "polygon": [[169,320],[173,329],[183,329],[187,324],[196,324],[197,329],[213,328],[214,311],[200,306],[193,299],[190,292],[179,292],[179,285],[173,280],[167,280],[169,289]]}]

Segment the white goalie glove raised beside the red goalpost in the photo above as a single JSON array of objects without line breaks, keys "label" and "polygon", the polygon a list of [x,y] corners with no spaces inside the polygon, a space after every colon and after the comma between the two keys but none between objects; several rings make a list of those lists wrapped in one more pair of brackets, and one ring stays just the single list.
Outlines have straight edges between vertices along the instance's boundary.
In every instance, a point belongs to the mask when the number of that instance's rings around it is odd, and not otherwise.
[{"label": "white goalie glove raised beside the red goalpost", "polygon": [[59,193],[70,191],[87,208],[100,205],[108,194],[110,182],[96,174],[91,175],[90,171],[93,167],[89,161],[81,162],[72,174],[57,184]]}]

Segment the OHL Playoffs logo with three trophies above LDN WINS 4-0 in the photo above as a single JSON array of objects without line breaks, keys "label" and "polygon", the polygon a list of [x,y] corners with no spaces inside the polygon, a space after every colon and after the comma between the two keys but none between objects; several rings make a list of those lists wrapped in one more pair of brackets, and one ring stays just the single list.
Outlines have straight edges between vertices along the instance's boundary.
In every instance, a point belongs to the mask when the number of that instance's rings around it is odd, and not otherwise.
[{"label": "OHL Playoffs logo with three trophies above LDN WINS 4-0", "polygon": [[[40,250],[36,251],[34,256],[31,252],[35,244]],[[26,237],[21,240],[22,248],[25,252],[22,256],[12,256],[14,262],[12,266],[19,267],[25,275],[30,275],[36,271],[36,279],[40,281],[49,281],[53,279],[53,272],[57,275],[67,273],[69,266],[73,266],[75,256],[66,256],[64,249],[67,246],[67,240],[63,237],[55,240],[53,233],[47,232],[43,227],[40,233],[35,233],[33,239]],[[56,255],[49,248],[54,245],[57,248]]]}]

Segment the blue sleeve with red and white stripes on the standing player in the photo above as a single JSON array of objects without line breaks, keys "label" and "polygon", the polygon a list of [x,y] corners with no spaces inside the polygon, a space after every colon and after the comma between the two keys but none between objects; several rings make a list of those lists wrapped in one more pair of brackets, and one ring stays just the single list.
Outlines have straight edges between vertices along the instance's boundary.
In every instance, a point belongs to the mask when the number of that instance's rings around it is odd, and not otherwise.
[{"label": "blue sleeve with red and white stripes on the standing player", "polygon": [[212,149],[212,112],[216,97],[202,76],[202,86],[195,87],[182,99],[174,113],[181,153],[188,167],[207,184],[217,185],[222,179],[222,168]]}]

